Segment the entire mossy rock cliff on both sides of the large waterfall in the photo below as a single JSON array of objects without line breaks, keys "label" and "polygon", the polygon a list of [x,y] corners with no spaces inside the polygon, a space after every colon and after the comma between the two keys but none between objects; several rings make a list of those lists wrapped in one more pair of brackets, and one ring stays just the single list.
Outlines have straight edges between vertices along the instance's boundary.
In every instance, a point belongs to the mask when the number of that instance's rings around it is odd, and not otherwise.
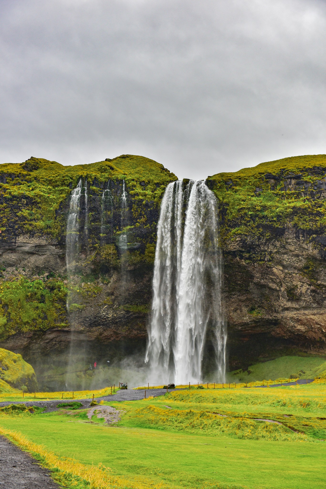
[{"label": "entire mossy rock cliff on both sides of the large waterfall", "polygon": [[[219,207],[231,370],[326,354],[325,175],[326,156],[317,155],[207,178]],[[161,164],[133,155],[0,165],[1,346],[37,368],[36,358],[65,354],[72,328],[78,348],[99,357],[103,348],[142,356],[160,202],[174,180]],[[68,277],[65,233],[79,182],[80,253]],[[41,377],[51,388],[46,372]]]}]

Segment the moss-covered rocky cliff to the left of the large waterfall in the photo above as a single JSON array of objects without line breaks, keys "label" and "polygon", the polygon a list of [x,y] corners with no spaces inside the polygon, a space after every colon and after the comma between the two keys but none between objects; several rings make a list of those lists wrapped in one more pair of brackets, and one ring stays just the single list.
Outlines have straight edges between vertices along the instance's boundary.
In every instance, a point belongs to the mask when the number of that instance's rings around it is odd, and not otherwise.
[{"label": "moss-covered rocky cliff to the left of the large waterfall", "polygon": [[[27,356],[31,349],[64,350],[71,327],[82,343],[144,341],[159,204],[175,179],[163,165],[132,155],[72,167],[34,157],[0,165],[3,344]],[[80,252],[74,273],[67,276],[69,199],[80,180]],[[128,238],[123,246],[122,233]]]}]

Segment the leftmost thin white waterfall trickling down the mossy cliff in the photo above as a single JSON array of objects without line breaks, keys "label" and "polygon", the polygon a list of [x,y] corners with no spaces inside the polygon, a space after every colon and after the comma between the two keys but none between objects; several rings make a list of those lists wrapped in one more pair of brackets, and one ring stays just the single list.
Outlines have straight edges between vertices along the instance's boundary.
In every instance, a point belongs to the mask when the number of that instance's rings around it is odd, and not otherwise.
[{"label": "leftmost thin white waterfall trickling down the mossy cliff", "polygon": [[80,196],[82,194],[82,179],[71,192],[67,227],[65,234],[65,262],[68,274],[75,266],[76,255],[79,252],[79,211]]}]

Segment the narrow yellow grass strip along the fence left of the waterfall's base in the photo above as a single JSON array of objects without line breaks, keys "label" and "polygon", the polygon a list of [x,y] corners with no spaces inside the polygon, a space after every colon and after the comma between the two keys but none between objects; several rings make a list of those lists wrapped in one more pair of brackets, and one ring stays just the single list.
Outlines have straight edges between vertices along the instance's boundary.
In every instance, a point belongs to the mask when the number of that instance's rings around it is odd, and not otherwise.
[{"label": "narrow yellow grass strip along the fence left of the waterfall's base", "polygon": [[[104,389],[93,390],[93,391],[61,391],[61,392],[32,392],[24,393],[22,397],[22,392],[13,392],[10,394],[0,394],[0,400],[51,400],[51,399],[89,399],[92,398],[94,394],[94,399],[102,396],[109,396],[111,394],[111,387],[105,387]],[[113,394],[113,389],[112,389]]]}]

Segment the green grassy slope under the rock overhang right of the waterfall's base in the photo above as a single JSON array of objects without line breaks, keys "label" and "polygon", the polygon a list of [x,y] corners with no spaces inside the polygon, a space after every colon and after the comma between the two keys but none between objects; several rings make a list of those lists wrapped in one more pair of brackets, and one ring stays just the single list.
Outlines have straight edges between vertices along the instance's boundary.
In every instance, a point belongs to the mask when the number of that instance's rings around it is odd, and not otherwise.
[{"label": "green grassy slope under the rock overhang right of the waterfall's base", "polygon": [[265,380],[286,381],[289,378],[315,378],[326,370],[325,356],[281,356],[275,360],[250,365],[246,371],[230,372],[231,382],[255,382]]}]

